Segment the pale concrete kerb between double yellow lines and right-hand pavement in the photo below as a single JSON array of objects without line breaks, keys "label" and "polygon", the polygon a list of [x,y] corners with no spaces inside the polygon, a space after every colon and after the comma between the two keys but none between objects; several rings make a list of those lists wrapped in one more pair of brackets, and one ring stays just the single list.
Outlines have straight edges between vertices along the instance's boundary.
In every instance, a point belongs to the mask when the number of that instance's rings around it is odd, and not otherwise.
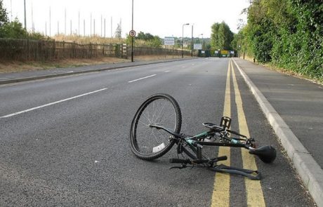
[{"label": "pale concrete kerb between double yellow lines and right-hand pavement", "polygon": [[[232,60],[235,62],[234,59]],[[289,126],[286,125],[282,117],[280,117],[272,105],[270,105],[270,102],[268,102],[261,91],[258,90],[246,73],[237,65],[237,62],[235,62],[235,65],[237,66],[237,69],[239,69],[240,74],[244,77],[244,81],[246,81],[246,84],[249,86],[258,104],[261,106],[263,113],[281,141],[282,146],[294,164],[294,167],[303,180],[305,187],[307,187],[308,192],[310,192],[312,198],[317,203],[317,206],[323,206],[322,168],[301,144]]]}]

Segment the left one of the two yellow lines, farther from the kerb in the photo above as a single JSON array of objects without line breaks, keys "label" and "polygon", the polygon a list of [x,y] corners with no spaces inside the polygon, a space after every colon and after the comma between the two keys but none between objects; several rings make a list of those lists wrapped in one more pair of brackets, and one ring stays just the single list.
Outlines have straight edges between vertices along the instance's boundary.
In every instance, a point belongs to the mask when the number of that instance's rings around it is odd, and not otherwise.
[{"label": "left one of the two yellow lines, farther from the kerb", "polygon": [[[230,62],[228,65],[227,82],[225,86],[225,100],[223,116],[231,116],[231,98],[230,98]],[[230,166],[230,147],[219,147],[218,156],[228,156],[226,161],[221,163]],[[230,206],[230,175],[225,173],[216,173],[214,179],[213,194],[211,206]]]}]

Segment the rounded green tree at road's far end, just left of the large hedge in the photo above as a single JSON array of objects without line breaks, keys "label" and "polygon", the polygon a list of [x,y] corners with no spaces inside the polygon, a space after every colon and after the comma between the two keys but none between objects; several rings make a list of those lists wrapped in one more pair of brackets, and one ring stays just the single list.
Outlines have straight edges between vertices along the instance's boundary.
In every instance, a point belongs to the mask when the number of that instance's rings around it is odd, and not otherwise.
[{"label": "rounded green tree at road's far end, just left of the large hedge", "polygon": [[211,27],[211,48],[214,50],[231,50],[233,32],[225,22],[214,23]]}]

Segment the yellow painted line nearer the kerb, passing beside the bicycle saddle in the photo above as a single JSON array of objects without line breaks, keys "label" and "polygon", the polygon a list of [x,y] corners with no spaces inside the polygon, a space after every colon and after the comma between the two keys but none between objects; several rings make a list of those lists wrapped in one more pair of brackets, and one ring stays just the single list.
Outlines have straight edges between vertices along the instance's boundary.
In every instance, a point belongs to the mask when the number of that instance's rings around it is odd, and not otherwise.
[{"label": "yellow painted line nearer the kerb, passing beside the bicycle saddle", "polygon": [[[231,61],[231,60],[230,60]],[[243,135],[249,137],[249,129],[246,125],[246,116],[244,116],[244,109],[242,107],[242,98],[239,92],[237,79],[235,77],[235,70],[232,67],[233,86],[235,88],[235,102],[237,104],[237,114],[239,121],[239,131]],[[256,161],[253,155],[248,153],[247,149],[242,149],[243,167],[246,169],[257,170]],[[250,180],[245,178],[246,196],[248,206],[265,206],[265,199],[263,198],[263,190],[261,189],[260,180]]]}]

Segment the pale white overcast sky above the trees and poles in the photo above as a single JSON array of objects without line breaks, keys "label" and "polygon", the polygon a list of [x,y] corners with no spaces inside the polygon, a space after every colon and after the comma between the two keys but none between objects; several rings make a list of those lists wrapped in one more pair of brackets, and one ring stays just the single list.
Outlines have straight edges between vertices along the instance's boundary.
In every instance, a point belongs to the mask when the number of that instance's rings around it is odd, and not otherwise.
[{"label": "pale white overcast sky above the trees and poles", "polygon": [[[107,37],[114,36],[120,22],[123,37],[132,29],[132,0],[25,1],[27,30],[32,31],[34,25],[35,32],[48,36],[58,32],[65,34],[65,25],[66,34],[71,33],[72,25],[72,34],[95,32]],[[3,0],[3,3],[8,18],[18,18],[24,25],[24,0]],[[237,33],[238,20],[246,21],[242,10],[248,6],[249,0],[133,0],[133,30],[137,34],[144,32],[161,38],[190,37],[193,27],[193,36],[207,38],[211,36],[211,26],[224,21]],[[183,27],[186,23],[190,25]]]}]

